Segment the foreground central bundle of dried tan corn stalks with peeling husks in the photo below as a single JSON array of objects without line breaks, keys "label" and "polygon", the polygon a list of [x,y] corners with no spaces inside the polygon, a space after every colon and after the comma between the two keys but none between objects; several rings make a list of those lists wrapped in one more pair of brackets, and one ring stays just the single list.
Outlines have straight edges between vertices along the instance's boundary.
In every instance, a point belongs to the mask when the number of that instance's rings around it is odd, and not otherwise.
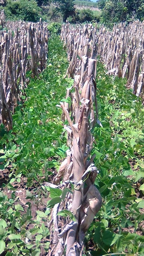
[{"label": "foreground central bundle of dried tan corn stalks with peeling husks", "polygon": [[[77,36],[77,35],[76,35]],[[82,41],[81,41],[82,42]],[[74,75],[74,86],[67,88],[66,98],[71,103],[60,102],[63,110],[62,119],[67,119],[67,157],[62,162],[53,184],[44,183],[50,187],[60,188],[65,193],[65,199],[57,203],[51,213],[50,250],[48,255],[82,255],[84,250],[84,234],[101,208],[101,195],[93,185],[97,176],[97,168],[91,157],[93,137],[91,129],[98,120],[96,101],[96,42],[91,45],[91,53],[81,52],[79,40],[74,43],[75,49],[82,56],[82,61],[73,55],[74,68],[69,67]],[[73,49],[72,49],[73,50]],[[83,56],[84,54],[84,56]],[[73,120],[73,121],[72,121]],[[62,180],[62,184],[60,181]],[[55,184],[55,185],[54,185]],[[70,189],[74,186],[74,191]],[[63,195],[62,194],[62,195]],[[63,197],[63,196],[62,196]],[[69,210],[75,220],[60,216],[61,210]],[[66,252],[64,252],[66,250]]]}]

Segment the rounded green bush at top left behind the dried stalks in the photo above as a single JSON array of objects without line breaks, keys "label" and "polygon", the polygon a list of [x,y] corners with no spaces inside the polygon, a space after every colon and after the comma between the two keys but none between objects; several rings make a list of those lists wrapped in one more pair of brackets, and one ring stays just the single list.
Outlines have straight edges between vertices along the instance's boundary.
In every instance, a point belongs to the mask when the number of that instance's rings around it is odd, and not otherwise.
[{"label": "rounded green bush at top left behind the dried stalks", "polygon": [[7,0],[5,6],[6,18],[36,22],[39,20],[41,9],[34,0]]}]

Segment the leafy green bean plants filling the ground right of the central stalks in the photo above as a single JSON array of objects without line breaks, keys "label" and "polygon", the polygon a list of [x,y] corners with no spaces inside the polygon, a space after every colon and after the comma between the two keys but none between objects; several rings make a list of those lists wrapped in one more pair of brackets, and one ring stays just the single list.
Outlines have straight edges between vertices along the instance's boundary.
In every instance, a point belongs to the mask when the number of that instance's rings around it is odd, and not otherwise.
[{"label": "leafy green bean plants filling the ground right of the central stalks", "polygon": [[[97,124],[93,130],[93,154],[99,169],[95,185],[101,192],[103,205],[95,217],[99,222],[91,224],[86,241],[92,240],[96,248],[91,255],[108,252],[142,255],[144,237],[137,233],[142,231],[144,206],[140,192],[143,187],[138,185],[144,177],[141,99],[126,89],[125,79],[114,79],[104,73],[98,63],[97,99],[102,126]],[[137,168],[139,171],[135,171]]]}]

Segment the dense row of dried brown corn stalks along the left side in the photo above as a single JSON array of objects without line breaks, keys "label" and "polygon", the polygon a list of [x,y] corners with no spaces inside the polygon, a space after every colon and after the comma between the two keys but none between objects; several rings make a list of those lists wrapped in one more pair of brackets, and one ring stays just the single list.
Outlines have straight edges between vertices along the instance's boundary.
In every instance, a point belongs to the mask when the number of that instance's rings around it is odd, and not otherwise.
[{"label": "dense row of dried brown corn stalks along the left side", "polygon": [[[26,73],[31,71],[33,76],[38,77],[46,66],[48,30],[47,24],[41,20],[37,23],[5,23],[3,12],[0,20],[3,26],[5,24],[4,29],[0,31],[3,96],[9,110],[14,113],[18,101],[21,100],[21,89],[26,86]],[[3,113],[7,112],[5,106],[3,108]],[[7,115],[9,114],[7,112]],[[10,129],[6,117],[4,119]]]}]

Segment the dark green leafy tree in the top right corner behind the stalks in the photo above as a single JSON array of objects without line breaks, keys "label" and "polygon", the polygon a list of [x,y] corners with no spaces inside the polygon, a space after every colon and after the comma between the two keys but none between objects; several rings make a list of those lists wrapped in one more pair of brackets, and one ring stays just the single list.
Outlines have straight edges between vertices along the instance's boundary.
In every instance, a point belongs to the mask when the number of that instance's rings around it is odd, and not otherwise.
[{"label": "dark green leafy tree in the top right corner behind the stalks", "polygon": [[108,26],[144,18],[144,2],[141,0],[103,0],[99,6],[102,8],[101,22]]}]

